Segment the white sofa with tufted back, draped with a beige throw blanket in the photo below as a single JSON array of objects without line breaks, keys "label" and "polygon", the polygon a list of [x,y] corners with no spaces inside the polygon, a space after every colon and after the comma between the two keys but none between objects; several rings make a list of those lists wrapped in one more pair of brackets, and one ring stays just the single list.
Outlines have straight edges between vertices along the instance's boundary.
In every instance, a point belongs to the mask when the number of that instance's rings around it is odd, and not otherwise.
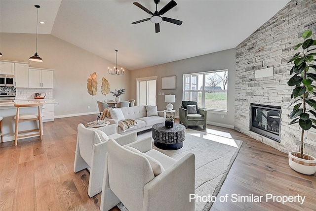
[{"label": "white sofa with tufted back, draped with a beige throw blanket", "polygon": [[131,131],[143,131],[146,129],[150,129],[153,125],[157,123],[163,123],[165,120],[166,113],[164,111],[158,111],[158,116],[147,116],[146,106],[133,106],[133,107],[123,107],[116,108],[120,109],[124,115],[125,119],[133,119],[137,122],[137,125],[134,127],[130,127],[127,130],[123,131],[120,127],[118,127],[118,120],[105,118],[110,122],[110,124],[117,125],[117,131],[119,134],[129,133]]}]

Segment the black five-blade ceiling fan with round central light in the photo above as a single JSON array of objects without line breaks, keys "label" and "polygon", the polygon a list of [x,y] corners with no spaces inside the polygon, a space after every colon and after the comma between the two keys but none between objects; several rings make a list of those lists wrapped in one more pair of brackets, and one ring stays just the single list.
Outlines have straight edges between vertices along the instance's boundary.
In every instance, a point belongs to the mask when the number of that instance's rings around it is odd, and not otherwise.
[{"label": "black five-blade ceiling fan with round central light", "polygon": [[175,7],[177,5],[177,3],[174,0],[171,0],[169,3],[167,3],[164,7],[162,7],[162,9],[159,10],[159,12],[157,11],[157,5],[160,2],[160,0],[154,0],[154,1],[156,3],[156,11],[154,13],[152,13],[149,9],[147,9],[146,7],[141,5],[140,3],[133,2],[133,4],[135,4],[136,6],[138,6],[139,8],[144,10],[145,12],[147,12],[148,14],[152,15],[152,17],[146,18],[143,20],[139,20],[139,21],[135,21],[132,24],[137,24],[137,23],[141,23],[141,22],[150,20],[152,23],[155,23],[156,33],[160,32],[159,23],[161,23],[162,21],[177,24],[179,26],[182,24],[182,21],[180,21],[180,20],[167,18],[167,17],[161,17],[161,15],[163,15],[164,13],[166,13],[167,11],[169,11],[170,9],[172,9],[173,7]]}]

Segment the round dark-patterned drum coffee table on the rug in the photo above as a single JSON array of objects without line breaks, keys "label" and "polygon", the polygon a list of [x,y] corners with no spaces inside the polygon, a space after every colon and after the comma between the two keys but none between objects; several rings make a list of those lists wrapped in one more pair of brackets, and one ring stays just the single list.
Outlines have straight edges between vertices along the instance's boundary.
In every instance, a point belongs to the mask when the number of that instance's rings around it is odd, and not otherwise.
[{"label": "round dark-patterned drum coffee table on the rug", "polygon": [[180,149],[186,139],[186,127],[177,123],[172,128],[158,123],[153,125],[152,131],[155,146],[164,150]]}]

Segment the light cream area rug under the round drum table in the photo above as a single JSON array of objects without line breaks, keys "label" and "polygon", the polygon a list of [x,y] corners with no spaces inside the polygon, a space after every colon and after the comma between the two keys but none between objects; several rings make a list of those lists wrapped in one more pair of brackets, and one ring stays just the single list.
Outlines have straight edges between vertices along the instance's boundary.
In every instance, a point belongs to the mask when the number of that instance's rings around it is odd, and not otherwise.
[{"label": "light cream area rug under the round drum table", "polygon": [[[138,139],[152,136],[152,131],[138,133]],[[154,141],[153,141],[154,143]],[[186,130],[183,147],[178,150],[156,149],[176,160],[188,152],[195,154],[195,194],[198,196],[217,196],[225,178],[233,165],[242,145],[241,140],[233,139],[229,133],[207,129],[206,132],[194,129]],[[188,196],[189,197],[189,196]],[[196,211],[208,211],[212,202],[196,202]],[[127,209],[120,203],[121,211]]]}]

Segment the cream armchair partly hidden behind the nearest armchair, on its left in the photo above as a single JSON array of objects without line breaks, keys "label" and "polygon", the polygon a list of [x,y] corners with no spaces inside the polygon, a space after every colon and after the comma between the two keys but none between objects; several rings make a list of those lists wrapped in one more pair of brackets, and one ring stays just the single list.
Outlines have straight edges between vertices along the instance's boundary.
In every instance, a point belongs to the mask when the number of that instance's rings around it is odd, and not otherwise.
[{"label": "cream armchair partly hidden behind the nearest armchair, on its left", "polygon": [[78,136],[74,171],[90,167],[88,195],[93,197],[102,190],[105,156],[108,151],[109,138],[115,139],[120,145],[137,140],[137,132],[125,135],[116,133],[116,125],[106,127],[86,128],[78,125]]}]

